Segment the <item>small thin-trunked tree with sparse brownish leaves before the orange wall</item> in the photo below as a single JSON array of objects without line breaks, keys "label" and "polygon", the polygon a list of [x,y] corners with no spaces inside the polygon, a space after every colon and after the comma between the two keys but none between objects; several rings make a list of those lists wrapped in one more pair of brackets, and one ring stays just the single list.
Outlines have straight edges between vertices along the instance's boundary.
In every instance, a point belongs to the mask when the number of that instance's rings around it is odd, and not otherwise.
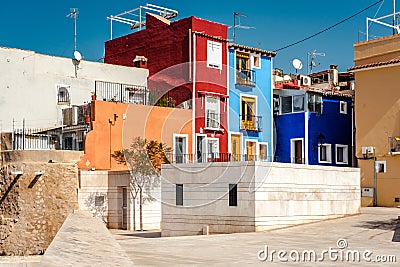
[{"label": "small thin-trunked tree with sparse brownish leaves before the orange wall", "polygon": [[[171,151],[158,141],[136,137],[129,149],[115,151],[112,156],[118,163],[128,165],[130,192],[133,199],[139,196],[140,230],[143,230],[143,203],[153,201],[151,191],[160,183],[161,164],[169,163],[165,153]],[[134,225],[136,230],[136,225]]]}]

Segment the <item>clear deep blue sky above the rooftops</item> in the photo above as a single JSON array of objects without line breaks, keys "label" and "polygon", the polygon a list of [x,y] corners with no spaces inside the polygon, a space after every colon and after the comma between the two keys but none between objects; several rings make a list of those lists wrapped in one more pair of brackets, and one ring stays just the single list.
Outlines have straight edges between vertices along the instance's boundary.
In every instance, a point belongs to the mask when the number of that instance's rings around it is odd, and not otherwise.
[{"label": "clear deep blue sky above the rooftops", "polygon": [[[78,50],[86,60],[100,60],[104,42],[110,37],[108,15],[130,10],[146,2],[178,10],[179,18],[196,16],[211,21],[233,24],[233,12],[247,15],[242,25],[255,29],[237,30],[236,42],[266,50],[275,50],[314,34],[377,2],[377,0],[337,1],[7,1],[0,17],[0,46],[33,50],[38,53],[71,57],[73,54],[73,20],[67,18],[69,8],[80,10],[78,19]],[[400,3],[399,3],[400,5]],[[353,43],[365,40],[366,17],[374,17],[380,4],[338,27],[299,45],[282,50],[275,58],[275,67],[293,72],[291,60],[299,58],[307,64],[307,53],[324,52],[314,70],[338,64],[340,70],[353,65]],[[400,7],[399,7],[400,9]],[[399,10],[398,9],[398,10]],[[4,12],[6,11],[6,12]],[[385,0],[378,17],[391,13],[392,0]],[[115,24],[114,32],[128,34],[129,27]],[[370,32],[385,36],[391,30],[373,24]],[[230,32],[231,37],[231,32]],[[306,68],[300,71],[306,72]]]}]

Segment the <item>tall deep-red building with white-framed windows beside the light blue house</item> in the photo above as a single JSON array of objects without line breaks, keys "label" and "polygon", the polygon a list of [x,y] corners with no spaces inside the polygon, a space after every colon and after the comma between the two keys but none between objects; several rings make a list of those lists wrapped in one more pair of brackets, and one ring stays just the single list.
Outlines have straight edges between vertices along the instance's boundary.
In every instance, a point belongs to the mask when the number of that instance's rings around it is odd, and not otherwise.
[{"label": "tall deep-red building with white-framed windows beside the light blue house", "polygon": [[191,145],[194,160],[228,159],[227,35],[223,24],[196,17],[170,22],[147,13],[146,29],[105,44],[105,63],[135,66],[135,58],[147,58],[148,88],[158,104],[193,110],[195,141],[176,136],[175,154],[187,154]]}]

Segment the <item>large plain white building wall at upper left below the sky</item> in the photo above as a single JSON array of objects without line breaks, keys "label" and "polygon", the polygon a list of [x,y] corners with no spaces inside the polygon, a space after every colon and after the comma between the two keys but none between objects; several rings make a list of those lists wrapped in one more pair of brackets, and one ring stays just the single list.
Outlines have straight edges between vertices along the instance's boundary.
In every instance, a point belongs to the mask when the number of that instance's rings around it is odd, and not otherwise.
[{"label": "large plain white building wall at upper left below the sky", "polygon": [[[27,128],[61,125],[61,109],[89,102],[95,81],[147,85],[147,69],[82,60],[75,75],[72,58],[0,47],[0,128],[11,131],[13,119]],[[59,104],[58,90],[69,92],[68,104]]]}]

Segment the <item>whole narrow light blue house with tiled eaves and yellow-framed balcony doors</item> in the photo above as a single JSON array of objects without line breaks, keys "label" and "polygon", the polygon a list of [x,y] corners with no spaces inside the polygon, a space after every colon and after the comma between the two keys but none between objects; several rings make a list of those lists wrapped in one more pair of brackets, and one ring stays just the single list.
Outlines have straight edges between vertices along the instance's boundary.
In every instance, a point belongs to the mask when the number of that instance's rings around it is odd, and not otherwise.
[{"label": "whole narrow light blue house with tiled eaves and yellow-framed balcony doors", "polygon": [[275,55],[262,49],[229,45],[229,149],[234,161],[272,159]]}]

